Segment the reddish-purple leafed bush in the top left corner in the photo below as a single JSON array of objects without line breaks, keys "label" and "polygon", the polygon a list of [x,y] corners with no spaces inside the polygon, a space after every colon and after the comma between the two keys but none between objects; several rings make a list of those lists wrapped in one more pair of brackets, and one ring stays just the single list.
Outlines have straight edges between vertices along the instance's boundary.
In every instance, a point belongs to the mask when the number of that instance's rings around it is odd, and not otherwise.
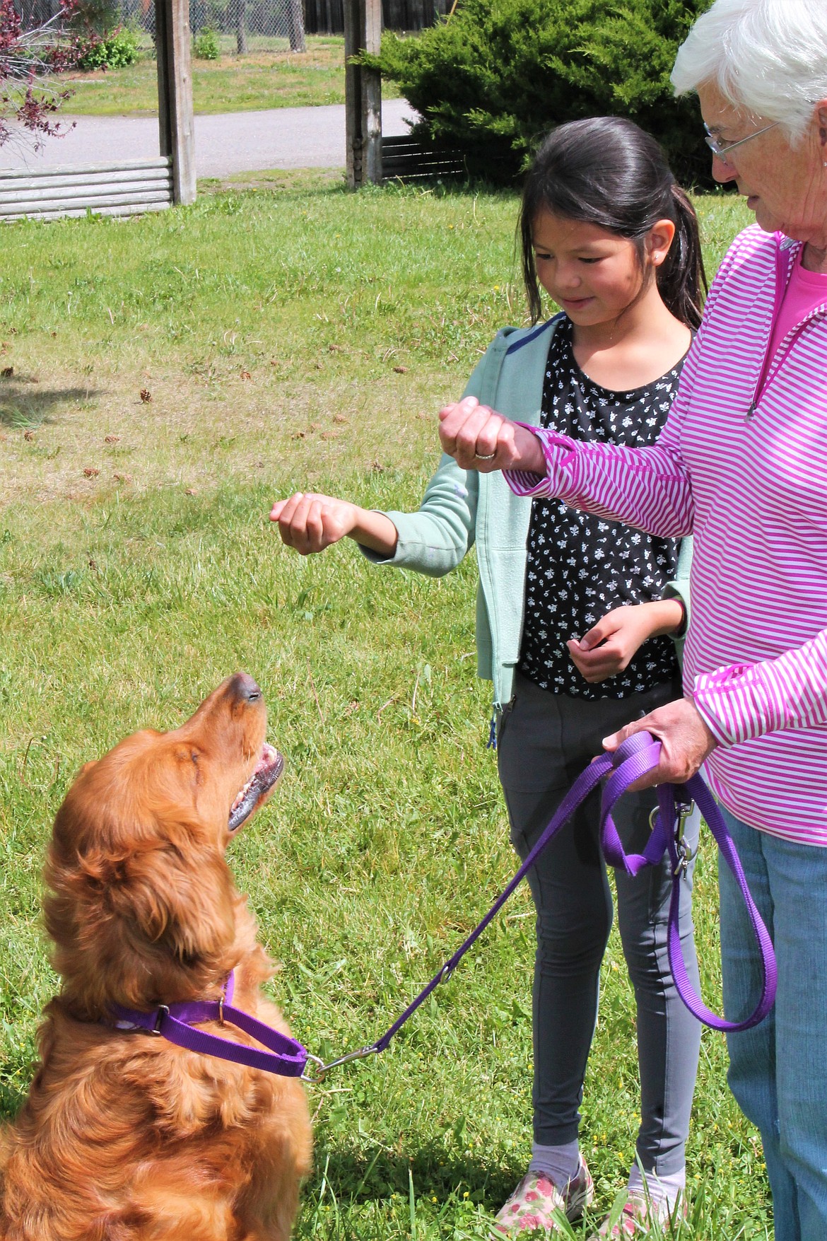
[{"label": "reddish-purple leafed bush in the top left corner", "polygon": [[81,0],[60,0],[53,17],[24,29],[14,0],[0,0],[0,146],[26,130],[35,149],[60,133],[55,113],[71,91],[50,84],[55,73],[73,68],[79,40],[71,34]]}]

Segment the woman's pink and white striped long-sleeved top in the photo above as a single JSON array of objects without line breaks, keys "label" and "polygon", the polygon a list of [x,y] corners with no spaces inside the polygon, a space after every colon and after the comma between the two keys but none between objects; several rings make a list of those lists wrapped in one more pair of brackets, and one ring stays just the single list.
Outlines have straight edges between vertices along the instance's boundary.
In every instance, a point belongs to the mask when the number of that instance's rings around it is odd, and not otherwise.
[{"label": "woman's pink and white striped long-sleeved top", "polygon": [[719,746],[715,793],[755,828],[827,845],[827,300],[765,367],[798,242],[758,226],[713,282],[651,448],[539,437],[518,495],[694,535],[684,685]]}]

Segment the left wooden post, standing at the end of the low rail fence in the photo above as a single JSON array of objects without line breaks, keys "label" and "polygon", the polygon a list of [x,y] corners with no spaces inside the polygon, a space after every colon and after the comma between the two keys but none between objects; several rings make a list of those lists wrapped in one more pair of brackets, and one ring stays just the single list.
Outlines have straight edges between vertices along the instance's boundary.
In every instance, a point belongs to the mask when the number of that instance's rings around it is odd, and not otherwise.
[{"label": "left wooden post, standing at the end of the low rail fence", "polygon": [[155,46],[160,151],[172,160],[174,201],[195,202],[188,0],[155,0]]}]

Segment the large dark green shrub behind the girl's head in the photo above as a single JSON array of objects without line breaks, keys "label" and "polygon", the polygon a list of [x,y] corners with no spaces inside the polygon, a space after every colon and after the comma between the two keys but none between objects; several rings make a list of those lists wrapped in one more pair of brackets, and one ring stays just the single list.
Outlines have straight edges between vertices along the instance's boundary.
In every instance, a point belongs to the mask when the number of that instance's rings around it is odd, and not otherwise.
[{"label": "large dark green shrub behind the girl's head", "polygon": [[663,144],[684,184],[709,182],[697,99],[670,83],[678,43],[710,0],[460,0],[415,38],[388,34],[363,63],[399,84],[414,133],[512,180],[564,120],[625,115]]}]

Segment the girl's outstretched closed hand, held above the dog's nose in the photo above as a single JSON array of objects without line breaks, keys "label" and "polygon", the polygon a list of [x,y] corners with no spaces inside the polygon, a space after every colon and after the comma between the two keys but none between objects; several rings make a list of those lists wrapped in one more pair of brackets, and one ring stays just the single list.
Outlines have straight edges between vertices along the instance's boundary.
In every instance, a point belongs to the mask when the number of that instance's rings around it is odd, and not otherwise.
[{"label": "girl's outstretched closed hand, held above the dog's nose", "polygon": [[296,491],[275,501],[270,521],[278,521],[281,541],[301,556],[324,551],[346,536],[381,556],[393,556],[397,549],[397,527],[389,517],[334,495]]}]

